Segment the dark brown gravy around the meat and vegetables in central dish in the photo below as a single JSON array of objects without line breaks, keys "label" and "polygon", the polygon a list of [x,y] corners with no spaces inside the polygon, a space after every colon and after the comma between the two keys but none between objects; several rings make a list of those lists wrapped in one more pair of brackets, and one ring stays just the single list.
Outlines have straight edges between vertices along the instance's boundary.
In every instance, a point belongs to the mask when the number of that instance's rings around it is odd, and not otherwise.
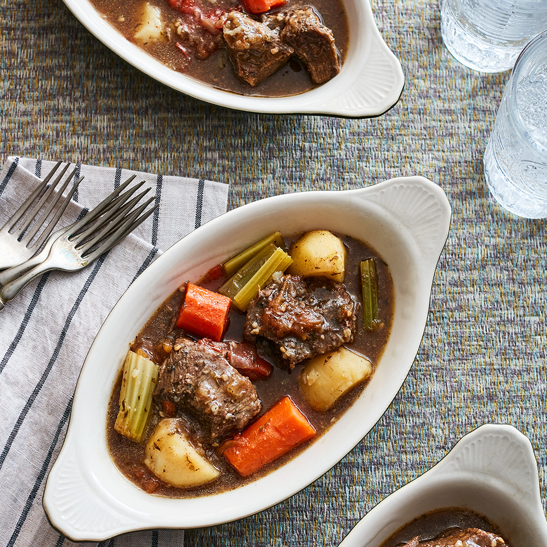
[{"label": "dark brown gravy around the meat and vegetables in central dish", "polygon": [[[342,241],[344,241],[344,244],[348,249],[344,284],[348,291],[353,295],[356,302],[360,302],[362,298],[360,294],[359,278],[360,261],[369,257],[375,257],[377,259],[376,267],[379,277],[379,328],[377,328],[374,333],[368,333],[365,331],[361,311],[362,308],[359,305],[357,307],[356,339],[352,344],[345,345],[352,351],[360,353],[368,358],[373,364],[373,370],[375,370],[387,344],[393,323],[395,299],[393,281],[391,274],[389,273],[388,266],[383,262],[379,254],[373,248],[362,242],[356,241],[351,237],[341,235],[339,235],[339,237]],[[295,241],[296,238],[298,238],[298,236],[284,237],[287,247],[289,247],[290,243]],[[223,279],[219,279],[213,282],[203,282],[199,284],[208,289],[216,290],[223,282]],[[155,314],[148,320],[146,325],[144,325],[143,329],[137,335],[135,342],[133,342],[131,350],[137,351],[141,349],[142,351],[148,353],[155,363],[161,364],[168,355],[162,347],[161,341],[166,338],[166,333],[171,329],[171,325],[174,321],[176,321],[182,299],[183,293],[181,290],[177,289],[173,294],[171,294],[159,307],[159,309],[156,310]],[[224,335],[224,340],[241,341],[244,322],[245,315],[232,309],[230,311],[230,325]],[[176,339],[178,335],[182,334],[182,332],[183,331],[175,327],[168,335],[168,339],[174,341],[174,339]],[[294,458],[302,450],[305,450],[307,446],[327,431],[331,424],[333,424],[348,408],[350,408],[366,386],[366,383],[359,385],[351,392],[345,394],[341,399],[339,399],[339,401],[337,401],[334,408],[328,412],[316,412],[310,408],[304,393],[301,392],[299,387],[299,376],[302,367],[302,364],[297,364],[292,373],[289,373],[287,370],[274,366],[274,372],[269,379],[253,382],[253,385],[257,390],[258,397],[262,401],[263,410],[260,414],[263,414],[266,410],[271,408],[271,406],[284,397],[284,395],[290,395],[296,405],[302,412],[304,412],[309,421],[316,428],[317,435],[313,439],[300,445],[298,448],[277,459],[275,462],[266,465],[263,469],[255,472],[247,478],[241,477],[222,455],[219,456],[217,454],[214,447],[207,447],[204,444],[203,448],[206,452],[205,455],[207,459],[220,470],[220,476],[211,483],[193,488],[174,488],[162,483],[154,491],[154,494],[178,498],[206,496],[242,486],[248,482],[258,479],[260,476],[270,473],[272,470],[281,467],[281,465]],[[153,415],[150,416],[148,430],[144,437],[143,443],[135,443],[129,439],[126,439],[114,429],[114,422],[118,414],[120,385],[121,370],[113,389],[112,396],[110,397],[110,404],[107,413],[106,434],[108,449],[110,456],[117,465],[118,469],[120,469],[121,473],[123,473],[126,478],[146,490],[147,482],[153,480],[153,475],[142,463],[144,460],[144,449],[146,442],[153,433],[156,424],[161,420],[161,416],[159,415],[160,409],[156,408]],[[199,432],[199,423],[195,421],[193,417],[185,416],[184,419],[187,421],[187,428],[189,430]],[[193,441],[194,443],[200,442],[199,433],[195,438],[193,437]]]}]

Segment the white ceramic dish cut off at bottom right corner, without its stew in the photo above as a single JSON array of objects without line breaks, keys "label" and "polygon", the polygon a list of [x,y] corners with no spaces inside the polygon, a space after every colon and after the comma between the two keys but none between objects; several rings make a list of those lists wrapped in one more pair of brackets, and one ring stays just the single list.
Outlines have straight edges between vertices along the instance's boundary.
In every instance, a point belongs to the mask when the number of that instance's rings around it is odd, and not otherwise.
[{"label": "white ceramic dish cut off at bottom right corner, without its stew", "polygon": [[547,545],[536,457],[513,426],[485,424],[437,465],[371,509],[340,547],[379,547],[410,521],[462,507],[487,517],[513,547]]}]

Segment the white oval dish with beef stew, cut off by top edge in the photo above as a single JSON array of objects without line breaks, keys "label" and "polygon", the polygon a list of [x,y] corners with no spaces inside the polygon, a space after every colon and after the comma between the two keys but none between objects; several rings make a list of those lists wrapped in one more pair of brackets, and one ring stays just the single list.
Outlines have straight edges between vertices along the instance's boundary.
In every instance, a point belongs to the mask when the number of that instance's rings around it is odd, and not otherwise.
[{"label": "white oval dish with beef stew, cut off by top edge", "polygon": [[220,106],[366,117],[403,90],[369,0],[64,1],[126,61]]}]

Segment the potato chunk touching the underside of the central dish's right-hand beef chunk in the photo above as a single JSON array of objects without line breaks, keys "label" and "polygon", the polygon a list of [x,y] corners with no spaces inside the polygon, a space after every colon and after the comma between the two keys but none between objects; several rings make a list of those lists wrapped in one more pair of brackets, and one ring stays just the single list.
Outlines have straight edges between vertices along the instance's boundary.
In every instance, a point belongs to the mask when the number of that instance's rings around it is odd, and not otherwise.
[{"label": "potato chunk touching the underside of the central dish's right-hand beef chunk", "polygon": [[300,385],[311,408],[326,411],[372,372],[368,359],[341,346],[311,359],[300,373]]}]

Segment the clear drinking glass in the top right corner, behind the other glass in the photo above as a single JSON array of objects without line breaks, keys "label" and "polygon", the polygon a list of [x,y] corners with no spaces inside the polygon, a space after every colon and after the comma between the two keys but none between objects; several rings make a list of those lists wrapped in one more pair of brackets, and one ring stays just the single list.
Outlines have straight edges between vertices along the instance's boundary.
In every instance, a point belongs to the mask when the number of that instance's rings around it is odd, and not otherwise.
[{"label": "clear drinking glass in the top right corner, behind the other glass", "polygon": [[440,0],[440,8],[446,48],[481,72],[509,70],[547,29],[547,0]]}]

